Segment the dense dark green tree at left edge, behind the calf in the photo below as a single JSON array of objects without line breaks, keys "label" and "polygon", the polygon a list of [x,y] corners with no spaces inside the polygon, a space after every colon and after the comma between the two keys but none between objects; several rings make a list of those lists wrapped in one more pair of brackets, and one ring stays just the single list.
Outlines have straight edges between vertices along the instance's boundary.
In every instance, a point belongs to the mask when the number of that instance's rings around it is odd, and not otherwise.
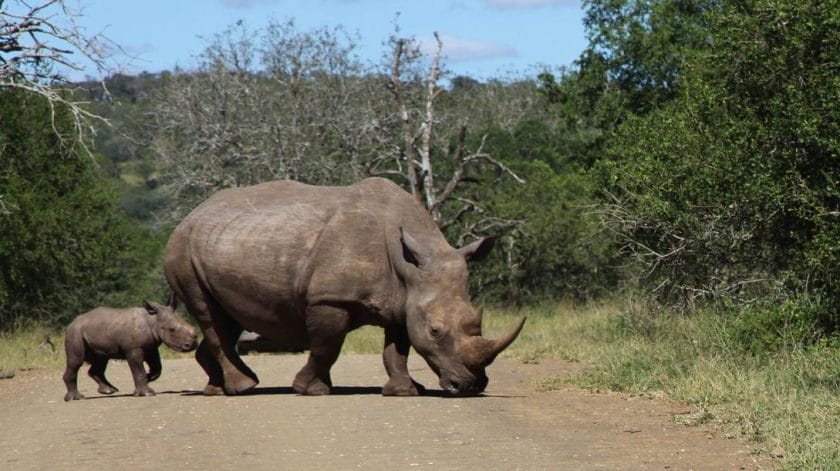
[{"label": "dense dark green tree at left edge, behind the calf", "polygon": [[80,154],[76,141],[62,137],[69,135],[72,120],[62,107],[53,118],[45,100],[2,92],[4,328],[15,320],[66,322],[109,294],[132,292],[134,275],[146,268],[136,258],[145,242],[120,215],[117,196],[96,164]]}]

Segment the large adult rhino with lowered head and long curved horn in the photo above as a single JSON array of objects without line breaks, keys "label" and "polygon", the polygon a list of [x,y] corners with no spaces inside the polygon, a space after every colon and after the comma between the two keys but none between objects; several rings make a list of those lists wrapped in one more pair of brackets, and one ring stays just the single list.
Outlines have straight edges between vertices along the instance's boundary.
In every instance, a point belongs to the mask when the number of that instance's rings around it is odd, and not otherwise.
[{"label": "large adult rhino with lowered head and long curved horn", "polygon": [[423,387],[409,376],[409,346],[453,395],[487,385],[485,367],[522,329],[481,336],[470,305],[468,260],[493,245],[453,249],[429,213],[393,182],[346,187],[274,181],[220,191],[192,211],[166,247],[172,289],[204,332],[196,359],[204,394],[240,394],[257,376],[236,352],[243,329],[310,350],[293,388],[328,394],[330,368],[347,332],[385,329],[384,395]]}]

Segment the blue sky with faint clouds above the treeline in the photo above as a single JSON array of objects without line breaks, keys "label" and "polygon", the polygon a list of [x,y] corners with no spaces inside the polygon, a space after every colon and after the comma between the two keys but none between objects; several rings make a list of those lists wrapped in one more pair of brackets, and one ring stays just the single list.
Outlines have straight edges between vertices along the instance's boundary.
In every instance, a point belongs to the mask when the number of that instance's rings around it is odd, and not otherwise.
[{"label": "blue sky with faint clouds above the treeline", "polygon": [[[580,0],[79,0],[88,33],[104,32],[130,56],[127,73],[190,69],[206,39],[238,20],[270,19],[300,30],[342,25],[360,36],[359,53],[378,60],[397,23],[401,35],[441,35],[446,66],[478,79],[569,65],[586,45]],[[95,71],[82,73],[95,75]],[[529,74],[531,75],[531,74]],[[79,77],[81,78],[81,77]]]}]

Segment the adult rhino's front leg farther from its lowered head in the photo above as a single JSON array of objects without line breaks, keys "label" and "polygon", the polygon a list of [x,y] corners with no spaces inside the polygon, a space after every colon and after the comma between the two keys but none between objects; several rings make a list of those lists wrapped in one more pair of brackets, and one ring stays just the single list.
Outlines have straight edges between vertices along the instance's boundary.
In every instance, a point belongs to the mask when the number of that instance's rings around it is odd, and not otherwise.
[{"label": "adult rhino's front leg farther from its lowered head", "polygon": [[295,376],[292,388],[298,394],[329,394],[332,388],[330,368],[341,352],[347,335],[349,315],[333,306],[312,306],[306,312],[309,333],[309,359]]}]

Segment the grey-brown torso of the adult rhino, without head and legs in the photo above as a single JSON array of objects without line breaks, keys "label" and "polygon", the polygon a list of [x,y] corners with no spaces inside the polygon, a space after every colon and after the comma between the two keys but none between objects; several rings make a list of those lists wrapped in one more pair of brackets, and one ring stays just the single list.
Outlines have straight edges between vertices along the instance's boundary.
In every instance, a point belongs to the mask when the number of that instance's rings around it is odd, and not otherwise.
[{"label": "grey-brown torso of the adult rhino, without head and legs", "polygon": [[[322,302],[399,304],[388,259],[399,227],[439,237],[434,222],[394,183],[347,187],[293,181],[224,190],[196,208],[170,238],[167,270],[180,257],[206,291],[249,330],[302,319]],[[181,274],[184,275],[184,274]]]}]

